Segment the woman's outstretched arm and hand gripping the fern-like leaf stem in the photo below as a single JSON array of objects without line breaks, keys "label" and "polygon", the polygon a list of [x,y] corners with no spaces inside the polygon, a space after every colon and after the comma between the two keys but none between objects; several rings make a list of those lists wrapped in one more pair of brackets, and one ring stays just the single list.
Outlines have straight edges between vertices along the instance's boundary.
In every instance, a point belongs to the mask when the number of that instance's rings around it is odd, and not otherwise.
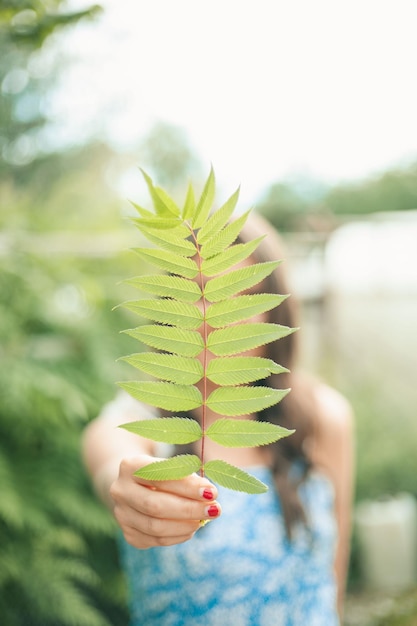
[{"label": "woman's outstretched arm and hand gripping the fern-like leaf stem", "polygon": [[[201,520],[220,515],[217,490],[196,474],[176,481],[144,481],[134,476],[155,460],[155,444],[118,428],[138,419],[141,405],[114,403],[85,429],[83,457],[95,490],[113,510],[126,540],[137,548],[182,543]],[[145,407],[144,407],[145,410]]]}]

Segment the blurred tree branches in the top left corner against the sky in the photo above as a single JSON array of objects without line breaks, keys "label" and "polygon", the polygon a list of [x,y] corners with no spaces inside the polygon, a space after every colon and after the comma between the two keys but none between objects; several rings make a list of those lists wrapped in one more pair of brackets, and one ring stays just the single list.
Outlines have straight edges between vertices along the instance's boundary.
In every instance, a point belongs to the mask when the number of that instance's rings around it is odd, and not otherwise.
[{"label": "blurred tree branches in the top left corner against the sky", "polygon": [[0,5],[0,181],[33,176],[34,161],[43,155],[41,93],[56,71],[50,58],[42,58],[47,40],[99,11],[95,5],[68,12],[65,5],[63,0],[2,0]]}]

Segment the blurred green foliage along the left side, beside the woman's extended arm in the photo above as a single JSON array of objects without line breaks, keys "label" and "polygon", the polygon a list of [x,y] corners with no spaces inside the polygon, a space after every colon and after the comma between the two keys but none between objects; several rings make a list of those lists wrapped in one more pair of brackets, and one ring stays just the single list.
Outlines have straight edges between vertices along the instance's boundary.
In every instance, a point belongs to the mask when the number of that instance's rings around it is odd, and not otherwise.
[{"label": "blurred green foliage along the left side, beside the woman's extended arm", "polygon": [[[30,185],[25,193],[9,192],[2,213],[0,615],[8,626],[127,619],[115,526],[92,494],[80,435],[115,393],[115,361],[126,350],[117,329],[129,322],[111,309],[124,299],[117,283],[133,270],[127,255],[117,258],[118,242],[92,245],[80,226],[97,200],[94,150],[90,159],[90,177],[79,177],[83,202],[67,219],[53,185],[42,202],[29,201]],[[111,213],[109,193],[100,208]],[[38,234],[30,228],[37,216]],[[49,227],[40,233],[43,219]],[[79,226],[62,239],[67,222]]]}]

